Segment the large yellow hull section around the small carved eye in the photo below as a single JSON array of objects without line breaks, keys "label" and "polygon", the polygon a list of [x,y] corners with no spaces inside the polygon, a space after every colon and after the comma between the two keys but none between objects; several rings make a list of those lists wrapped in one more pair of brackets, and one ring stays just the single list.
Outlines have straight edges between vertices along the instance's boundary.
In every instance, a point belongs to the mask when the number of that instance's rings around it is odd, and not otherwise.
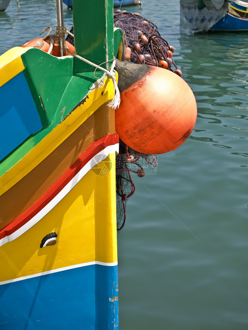
[{"label": "large yellow hull section around the small carved eye", "polygon": [[[85,262],[117,261],[115,153],[90,170],[36,225],[0,248],[0,282]],[[107,173],[108,172],[108,173]],[[40,248],[43,237],[58,243]]]}]

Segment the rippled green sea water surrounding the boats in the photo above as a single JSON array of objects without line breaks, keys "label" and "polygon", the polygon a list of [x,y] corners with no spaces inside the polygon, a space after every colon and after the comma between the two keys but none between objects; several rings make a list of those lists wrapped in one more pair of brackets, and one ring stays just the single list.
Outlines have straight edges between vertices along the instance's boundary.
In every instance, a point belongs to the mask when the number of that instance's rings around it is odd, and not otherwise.
[{"label": "rippled green sea water surrounding the boats", "polygon": [[[0,13],[0,54],[57,25],[56,1],[19,1]],[[155,175],[133,176],[118,233],[120,330],[247,330],[248,33],[184,34],[179,1],[125,9],[175,47],[198,117]]]}]

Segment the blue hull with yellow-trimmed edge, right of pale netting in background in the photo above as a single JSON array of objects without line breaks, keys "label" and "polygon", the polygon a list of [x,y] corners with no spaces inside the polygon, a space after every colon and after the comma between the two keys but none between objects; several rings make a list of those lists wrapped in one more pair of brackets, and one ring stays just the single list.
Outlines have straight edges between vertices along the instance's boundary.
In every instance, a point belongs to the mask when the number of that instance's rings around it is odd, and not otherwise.
[{"label": "blue hull with yellow-trimmed edge, right of pale netting in background", "polygon": [[248,31],[248,8],[229,2],[227,14],[214,24],[210,30]]}]

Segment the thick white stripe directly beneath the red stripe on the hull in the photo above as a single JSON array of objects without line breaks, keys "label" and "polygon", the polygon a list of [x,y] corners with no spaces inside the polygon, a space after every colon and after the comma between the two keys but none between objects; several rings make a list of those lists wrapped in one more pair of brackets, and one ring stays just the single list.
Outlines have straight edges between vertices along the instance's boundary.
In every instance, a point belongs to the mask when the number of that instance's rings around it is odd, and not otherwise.
[{"label": "thick white stripe directly beneath the red stripe on the hull", "polygon": [[[7,242],[12,242],[37,222],[39,222],[45,215],[47,215],[63,198],[66,196],[73,187],[97,164],[107,158],[110,153],[116,152],[119,149],[119,143],[111,145],[97,153],[87,164],[68,182],[62,190],[46,205],[40,212],[32,217],[28,222],[26,222],[21,228],[17,229],[14,233],[5,236],[0,240],[0,247]],[[117,151],[118,152],[118,151]]]}]

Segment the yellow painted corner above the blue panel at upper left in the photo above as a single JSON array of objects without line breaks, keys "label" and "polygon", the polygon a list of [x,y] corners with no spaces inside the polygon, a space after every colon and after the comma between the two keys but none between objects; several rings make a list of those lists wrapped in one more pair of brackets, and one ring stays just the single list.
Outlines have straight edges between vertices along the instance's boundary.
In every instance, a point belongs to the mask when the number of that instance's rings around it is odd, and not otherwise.
[{"label": "yellow painted corner above the blue panel at upper left", "polygon": [[30,47],[14,47],[0,56],[0,87],[25,69],[21,54],[28,49]]}]

